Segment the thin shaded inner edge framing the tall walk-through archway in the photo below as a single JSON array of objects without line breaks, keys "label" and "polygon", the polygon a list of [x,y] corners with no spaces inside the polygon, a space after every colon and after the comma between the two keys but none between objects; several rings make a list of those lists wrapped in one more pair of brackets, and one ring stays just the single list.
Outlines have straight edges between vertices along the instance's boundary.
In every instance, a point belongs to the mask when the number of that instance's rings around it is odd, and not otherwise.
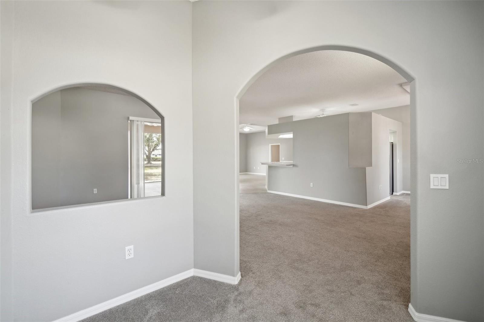
[{"label": "thin shaded inner edge framing the tall walk-through archway", "polygon": [[[353,52],[353,53],[358,53],[362,54],[368,57],[371,57],[373,59],[377,59],[378,61],[388,65],[391,67],[394,71],[399,73],[405,80],[409,83],[410,85],[410,128],[415,127],[415,109],[416,109],[416,100],[415,100],[415,78],[404,68],[399,66],[397,63],[393,62],[390,59],[387,59],[381,55],[378,55],[377,53],[374,53],[369,50],[365,50],[362,48],[357,48],[357,47],[350,47],[350,46],[344,46],[344,45],[322,45],[322,46],[316,46],[316,47],[310,47],[302,50],[298,50],[292,53],[289,53],[287,55],[284,55],[278,59],[273,60],[269,64],[267,64],[265,67],[260,69],[255,75],[253,75],[246,83],[245,85],[239,90],[237,95],[235,96],[235,109],[236,109],[236,119],[235,119],[235,124],[234,124],[234,129],[235,129],[235,150],[236,150],[236,196],[235,196],[235,204],[236,204],[236,267],[240,266],[240,185],[239,185],[239,101],[241,100],[242,96],[245,94],[247,89],[261,76],[263,73],[271,69],[273,66],[278,64],[279,62],[292,58],[294,56],[298,56],[301,54],[305,53],[310,53],[310,52],[316,52],[316,51],[324,51],[324,50],[333,50],[333,51],[348,51],[348,52]],[[410,132],[413,132],[411,130]],[[411,168],[411,178],[414,178],[414,172],[416,171],[415,169],[416,164],[417,164],[417,159],[418,156],[416,155],[416,145],[415,145],[415,138],[411,138],[411,145],[410,145],[410,153],[413,155],[413,157],[410,160],[410,168]],[[416,214],[416,197],[417,197],[417,186],[415,182],[411,182],[411,192],[413,195],[413,198],[411,199],[411,205],[410,205],[410,294],[415,294],[416,292],[412,292],[416,288],[416,283],[417,283],[417,278],[416,278],[416,230],[417,230],[417,214]],[[242,278],[243,278],[243,272],[241,272]],[[412,295],[410,302],[412,302]]]}]

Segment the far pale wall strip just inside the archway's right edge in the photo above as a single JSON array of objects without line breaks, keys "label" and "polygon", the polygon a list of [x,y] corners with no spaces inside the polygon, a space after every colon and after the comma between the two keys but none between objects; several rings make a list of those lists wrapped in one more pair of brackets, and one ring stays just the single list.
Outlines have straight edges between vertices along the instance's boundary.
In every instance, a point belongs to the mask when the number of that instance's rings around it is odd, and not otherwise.
[{"label": "far pale wall strip just inside the archway's right edge", "polygon": [[372,111],[402,123],[403,190],[410,191],[410,105]]}]

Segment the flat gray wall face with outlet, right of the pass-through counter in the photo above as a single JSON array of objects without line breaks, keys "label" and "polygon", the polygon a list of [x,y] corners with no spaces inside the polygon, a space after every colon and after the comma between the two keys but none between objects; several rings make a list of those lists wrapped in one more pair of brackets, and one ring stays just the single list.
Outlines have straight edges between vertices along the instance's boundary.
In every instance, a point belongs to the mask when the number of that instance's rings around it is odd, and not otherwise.
[{"label": "flat gray wall face with outlet, right of the pass-through counter", "polygon": [[348,167],[348,118],[340,114],[270,125],[271,133],[292,130],[295,165],[269,166],[268,190],[366,205],[365,168]]}]

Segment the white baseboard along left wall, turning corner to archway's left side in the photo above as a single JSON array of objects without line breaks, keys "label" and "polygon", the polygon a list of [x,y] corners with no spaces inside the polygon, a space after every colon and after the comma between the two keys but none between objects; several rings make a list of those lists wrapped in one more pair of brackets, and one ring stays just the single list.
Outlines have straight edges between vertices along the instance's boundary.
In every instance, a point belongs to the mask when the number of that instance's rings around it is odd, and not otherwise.
[{"label": "white baseboard along left wall, turning corner to archway's left side", "polygon": [[239,283],[241,279],[241,273],[236,277],[233,276],[228,276],[228,275],[223,275],[223,274],[218,274],[218,273],[213,273],[213,272],[208,272],[208,271],[202,271],[200,269],[189,269],[185,272],[182,272],[180,274],[174,275],[169,278],[165,278],[163,280],[160,280],[159,282],[150,284],[148,286],[142,287],[140,289],[137,289],[135,291],[123,294],[121,296],[115,297],[111,300],[108,300],[106,302],[103,302],[101,304],[95,305],[93,307],[88,307],[86,309],[80,310],[76,313],[73,313],[71,315],[65,316],[63,318],[57,319],[54,322],[74,322],[74,321],[80,321],[82,319],[88,318],[91,315],[100,313],[102,311],[107,310],[108,308],[118,306],[120,304],[126,303],[128,301],[131,301],[135,299],[136,297],[139,297],[141,295],[145,295],[148,293],[151,293],[153,291],[159,290],[161,288],[164,288],[165,286],[168,286],[170,284],[173,284],[175,282],[181,281],[182,279],[189,278],[191,276],[200,276],[203,278],[210,278],[214,280],[218,280],[221,282],[226,282],[229,284],[237,284]]}]

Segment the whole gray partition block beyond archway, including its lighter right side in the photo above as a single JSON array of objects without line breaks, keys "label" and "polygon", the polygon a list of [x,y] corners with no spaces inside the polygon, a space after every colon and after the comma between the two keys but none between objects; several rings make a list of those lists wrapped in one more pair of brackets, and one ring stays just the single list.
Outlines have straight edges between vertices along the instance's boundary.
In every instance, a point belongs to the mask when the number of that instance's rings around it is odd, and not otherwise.
[{"label": "whole gray partition block beyond archway, including its lighter right side", "polygon": [[402,190],[400,122],[364,112],[268,127],[271,134],[288,131],[294,135],[295,165],[270,166],[268,190],[363,206],[388,198],[390,131],[395,131],[393,189]]}]

